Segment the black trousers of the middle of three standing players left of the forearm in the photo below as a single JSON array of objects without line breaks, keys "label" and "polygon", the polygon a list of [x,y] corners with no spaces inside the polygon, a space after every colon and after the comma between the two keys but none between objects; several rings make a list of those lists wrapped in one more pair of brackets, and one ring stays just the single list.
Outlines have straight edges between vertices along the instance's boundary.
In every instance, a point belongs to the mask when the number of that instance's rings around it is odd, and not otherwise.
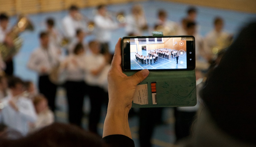
[{"label": "black trousers of the middle of three standing players left of the forearm", "polygon": [[86,85],[84,81],[67,81],[65,87],[68,98],[69,123],[81,126]]}]

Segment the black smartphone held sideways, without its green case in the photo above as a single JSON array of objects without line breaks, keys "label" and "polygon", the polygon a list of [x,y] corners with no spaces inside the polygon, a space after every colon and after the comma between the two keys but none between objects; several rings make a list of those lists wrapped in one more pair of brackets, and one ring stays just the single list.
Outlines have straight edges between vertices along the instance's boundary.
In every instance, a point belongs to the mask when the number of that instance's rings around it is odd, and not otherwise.
[{"label": "black smartphone held sideways, without its green case", "polygon": [[126,36],[121,49],[123,71],[195,69],[194,36]]}]

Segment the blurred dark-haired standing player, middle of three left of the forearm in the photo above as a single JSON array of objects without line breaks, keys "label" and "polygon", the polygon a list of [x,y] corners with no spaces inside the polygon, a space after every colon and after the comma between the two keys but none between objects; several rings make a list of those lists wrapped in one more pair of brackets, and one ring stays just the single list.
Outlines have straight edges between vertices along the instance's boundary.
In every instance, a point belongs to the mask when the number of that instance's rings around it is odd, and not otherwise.
[{"label": "blurred dark-haired standing player, middle of three left of the forearm", "polygon": [[86,93],[86,85],[84,82],[85,71],[81,64],[85,63],[84,48],[81,43],[78,43],[73,54],[61,63],[61,69],[66,71],[66,90],[69,108],[69,122],[81,126],[83,116],[83,100]]}]

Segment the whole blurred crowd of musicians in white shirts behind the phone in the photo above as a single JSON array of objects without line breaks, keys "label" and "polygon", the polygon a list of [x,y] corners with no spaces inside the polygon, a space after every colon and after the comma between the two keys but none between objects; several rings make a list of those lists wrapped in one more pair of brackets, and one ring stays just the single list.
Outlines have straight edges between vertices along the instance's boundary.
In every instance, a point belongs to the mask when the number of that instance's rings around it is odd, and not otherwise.
[{"label": "whole blurred crowd of musicians in white shirts behind the phone", "polygon": [[[127,36],[141,36],[145,31],[161,31],[164,35],[193,35],[196,42],[197,85],[217,54],[232,41],[232,34],[223,31],[224,20],[219,16],[213,20],[212,31],[203,39],[199,34],[195,7],[187,10],[187,17],[182,18],[181,22],[168,20],[168,13],[159,10],[153,28],[148,26],[141,5],[134,5],[130,14],[119,16],[119,20],[114,19],[114,14],[107,10],[106,5],[97,7],[97,14],[90,22],[75,5],[70,6],[68,11],[68,15],[62,19],[62,32],[56,28],[55,20],[48,18],[45,20],[47,29],[38,34],[40,44],[33,50],[27,63],[28,69],[37,72],[38,85],[13,75],[13,54],[0,59],[0,137],[15,139],[52,124],[58,86],[66,88],[68,121],[71,124],[82,127],[84,96],[89,97],[91,110],[88,130],[98,134],[102,104],[108,99],[107,74],[113,57],[109,51],[112,30],[124,27]],[[9,17],[2,13],[0,46],[15,48],[8,21]],[[92,33],[95,39],[86,42],[85,38]],[[189,136],[197,110],[198,106],[175,109],[177,141]],[[132,109],[133,113],[136,112]],[[157,113],[155,116],[160,116],[140,117],[139,135],[144,136],[140,138],[141,146],[150,146],[153,127],[161,123],[162,109],[147,108],[140,113]],[[142,124],[148,121],[152,122],[151,126],[143,128]]]}]

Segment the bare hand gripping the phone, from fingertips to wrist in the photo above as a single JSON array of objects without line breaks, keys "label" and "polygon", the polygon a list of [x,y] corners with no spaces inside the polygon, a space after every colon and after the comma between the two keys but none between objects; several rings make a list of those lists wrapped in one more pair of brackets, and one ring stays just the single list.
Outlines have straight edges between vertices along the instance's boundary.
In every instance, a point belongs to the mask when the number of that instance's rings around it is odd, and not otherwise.
[{"label": "bare hand gripping the phone, from fingertips to wrist", "polygon": [[108,73],[109,106],[130,110],[136,86],[148,76],[149,71],[144,69],[128,77],[122,72],[121,58],[121,38],[119,38]]}]

